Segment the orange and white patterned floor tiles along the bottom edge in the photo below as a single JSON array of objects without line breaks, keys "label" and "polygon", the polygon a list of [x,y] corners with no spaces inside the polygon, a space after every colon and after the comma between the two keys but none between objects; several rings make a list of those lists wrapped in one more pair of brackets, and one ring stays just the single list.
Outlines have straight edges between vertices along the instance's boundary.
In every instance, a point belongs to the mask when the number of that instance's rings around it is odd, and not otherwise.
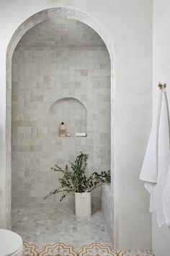
[{"label": "orange and white patterned floor tiles along the bottom edge", "polygon": [[24,256],[154,256],[151,251],[117,251],[110,244],[24,242]]}]

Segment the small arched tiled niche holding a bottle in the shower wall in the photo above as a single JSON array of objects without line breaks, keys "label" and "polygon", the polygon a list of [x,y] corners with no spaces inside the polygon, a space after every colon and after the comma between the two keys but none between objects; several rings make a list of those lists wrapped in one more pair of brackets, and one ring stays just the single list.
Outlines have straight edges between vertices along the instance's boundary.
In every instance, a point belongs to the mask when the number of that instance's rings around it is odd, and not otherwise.
[{"label": "small arched tiled niche holding a bottle in the shower wall", "polygon": [[86,107],[84,104],[76,98],[69,97],[55,101],[49,109],[50,137],[60,136],[62,121],[66,125],[66,133],[69,133],[71,137],[75,137],[75,132],[86,132]]}]

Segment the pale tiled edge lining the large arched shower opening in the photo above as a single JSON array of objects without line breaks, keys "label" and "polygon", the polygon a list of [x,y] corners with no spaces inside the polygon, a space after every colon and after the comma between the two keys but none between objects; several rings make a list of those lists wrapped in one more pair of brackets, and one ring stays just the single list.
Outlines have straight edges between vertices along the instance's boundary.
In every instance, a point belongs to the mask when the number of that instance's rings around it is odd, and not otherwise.
[{"label": "pale tiled edge lining the large arched shower opening", "polygon": [[[113,150],[113,123],[114,123],[114,83],[115,83],[115,74],[114,74],[114,56],[115,51],[112,46],[112,43],[110,43],[109,38],[107,36],[107,33],[104,32],[104,29],[95,21],[92,17],[89,16],[89,14],[85,14],[82,12],[79,12],[75,9],[70,9],[67,7],[57,7],[53,9],[45,9],[42,12],[38,12],[32,17],[25,20],[16,30],[14,35],[12,36],[12,39],[9,42],[9,46],[6,51],[6,219],[7,219],[7,227],[10,228],[11,226],[11,97],[12,97],[12,56],[14,53],[14,49],[17,46],[17,43],[22,38],[24,33],[27,32],[31,27],[37,25],[38,23],[48,20],[52,17],[59,16],[60,13],[66,14],[67,18],[73,19],[73,20],[79,20],[81,22],[84,22],[86,25],[91,27],[94,31],[96,31],[99,36],[104,40],[105,45],[107,46],[107,49],[109,51],[109,56],[111,60],[111,170],[113,170],[114,167],[114,150]],[[113,171],[112,171],[113,176]],[[113,193],[113,179],[111,184],[111,189]],[[112,231],[113,232],[113,231]]]}]

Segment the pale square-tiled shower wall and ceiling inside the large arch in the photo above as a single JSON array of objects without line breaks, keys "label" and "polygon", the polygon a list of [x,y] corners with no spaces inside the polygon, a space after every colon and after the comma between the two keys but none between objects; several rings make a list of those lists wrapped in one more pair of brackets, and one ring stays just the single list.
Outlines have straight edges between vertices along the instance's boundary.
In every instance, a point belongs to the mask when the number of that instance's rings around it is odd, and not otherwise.
[{"label": "pale square-tiled shower wall and ceiling inside the large arch", "polygon": [[[61,121],[71,137],[59,137]],[[89,173],[110,169],[110,124],[110,59],[102,38],[62,12],[28,30],[12,57],[13,229],[19,209],[74,208],[73,195],[42,202],[58,187],[60,176],[50,167],[83,151]],[[102,208],[107,227],[108,193],[108,187],[92,193],[93,212]]]}]

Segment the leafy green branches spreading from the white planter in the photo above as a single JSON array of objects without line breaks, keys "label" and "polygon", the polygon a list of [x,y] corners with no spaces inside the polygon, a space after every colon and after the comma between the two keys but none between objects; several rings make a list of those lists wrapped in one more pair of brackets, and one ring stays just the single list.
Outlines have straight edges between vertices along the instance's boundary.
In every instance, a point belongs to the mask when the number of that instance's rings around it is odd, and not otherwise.
[{"label": "leafy green branches spreading from the white planter", "polygon": [[94,171],[94,173],[87,176],[86,166],[88,156],[89,155],[86,153],[80,152],[80,155],[76,157],[73,163],[68,162],[71,168],[70,171],[68,165],[66,165],[64,169],[57,164],[55,164],[55,167],[51,167],[52,171],[63,173],[63,177],[58,179],[61,183],[61,187],[49,192],[43,200],[48,199],[51,195],[63,192],[63,195],[61,196],[62,201],[70,192],[90,192],[104,183],[110,183],[110,171],[102,171],[101,174]]}]

